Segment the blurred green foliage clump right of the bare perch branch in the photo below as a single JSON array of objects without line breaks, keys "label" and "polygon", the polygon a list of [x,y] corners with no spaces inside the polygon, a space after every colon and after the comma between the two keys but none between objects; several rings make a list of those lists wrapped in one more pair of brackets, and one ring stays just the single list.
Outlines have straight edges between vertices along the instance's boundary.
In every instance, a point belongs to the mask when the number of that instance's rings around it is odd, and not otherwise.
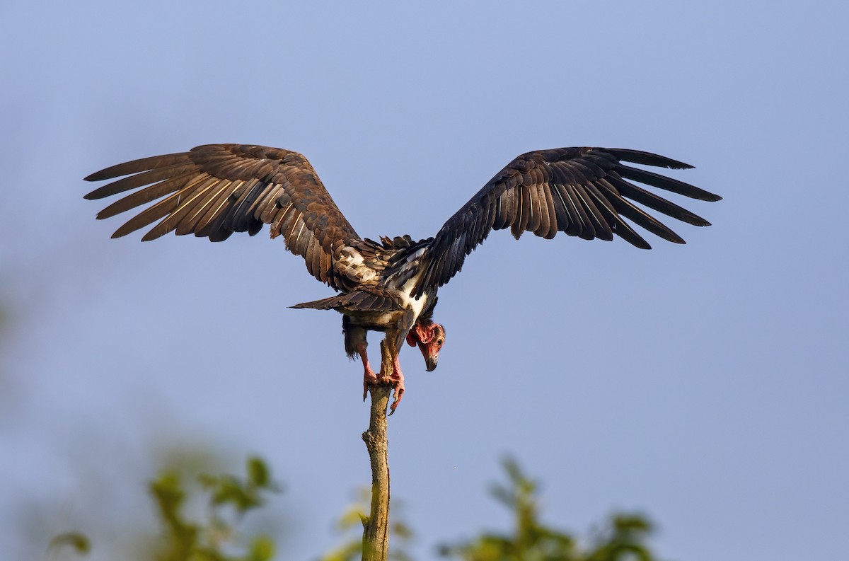
[{"label": "blurred green foliage clump right of the bare perch branch", "polygon": [[484,533],[458,545],[443,545],[443,557],[462,561],[656,561],[645,545],[652,530],[638,514],[619,514],[582,547],[574,536],[540,519],[537,482],[513,459],[504,460],[506,485],[493,485],[492,496],[514,514],[509,534]]}]

